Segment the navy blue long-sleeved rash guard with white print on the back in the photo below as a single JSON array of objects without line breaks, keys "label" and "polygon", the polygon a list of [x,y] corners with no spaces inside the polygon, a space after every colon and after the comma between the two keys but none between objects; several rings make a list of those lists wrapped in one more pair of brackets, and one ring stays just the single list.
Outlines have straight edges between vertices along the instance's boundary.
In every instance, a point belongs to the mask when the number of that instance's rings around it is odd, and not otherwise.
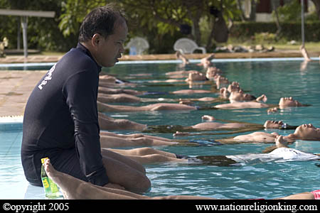
[{"label": "navy blue long-sleeved rash guard with white print on the back", "polygon": [[80,43],[38,82],[23,116],[21,160],[26,179],[41,183],[41,158],[95,185],[108,182],[97,115],[101,67]]}]

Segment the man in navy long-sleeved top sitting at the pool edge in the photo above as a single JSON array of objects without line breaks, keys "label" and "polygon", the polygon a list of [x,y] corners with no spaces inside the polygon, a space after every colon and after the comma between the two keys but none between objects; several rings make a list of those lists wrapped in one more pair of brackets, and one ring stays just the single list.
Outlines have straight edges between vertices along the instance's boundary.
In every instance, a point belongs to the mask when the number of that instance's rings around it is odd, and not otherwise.
[{"label": "man in navy long-sleeved top sitting at the pool edge", "polygon": [[57,170],[94,185],[145,192],[142,165],[117,153],[101,153],[97,114],[99,73],[124,53],[127,21],[107,5],[91,11],[79,43],[33,89],[23,118],[21,160],[28,182],[41,183],[41,158]]}]

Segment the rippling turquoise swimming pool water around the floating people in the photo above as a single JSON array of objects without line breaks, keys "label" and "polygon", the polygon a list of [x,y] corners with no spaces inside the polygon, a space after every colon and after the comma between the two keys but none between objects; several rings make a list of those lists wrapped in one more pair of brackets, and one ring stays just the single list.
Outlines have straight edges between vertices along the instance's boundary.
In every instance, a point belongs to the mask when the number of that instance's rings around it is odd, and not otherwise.
[{"label": "rippling turquoise swimming pool water around the floating people", "polygon": [[[230,81],[238,81],[246,92],[259,96],[266,94],[267,103],[277,104],[280,97],[294,97],[299,102],[311,104],[311,107],[299,107],[280,110],[279,113],[267,114],[266,109],[235,110],[197,110],[197,111],[147,111],[107,113],[114,118],[124,118],[148,125],[182,125],[189,126],[201,122],[201,116],[210,114],[217,119],[246,121],[263,124],[267,119],[282,120],[290,125],[314,124],[320,127],[320,72],[319,61],[309,62],[302,68],[301,59],[266,59],[266,60],[215,60],[215,66],[223,70],[223,76]],[[49,68],[49,67],[48,67]],[[191,63],[186,70],[202,70]],[[43,70],[43,67],[41,67]],[[187,84],[150,83],[149,80],[165,80],[165,72],[181,70],[177,62],[166,63],[120,63],[104,70],[120,79],[137,82],[139,86],[132,89],[149,92],[171,92],[188,89]],[[197,89],[210,89],[209,84],[198,85]],[[195,88],[195,87],[193,87]],[[218,94],[210,94],[218,97]],[[149,95],[149,98],[208,97],[208,94]],[[150,103],[150,102],[149,102]],[[149,103],[139,103],[142,105]],[[20,165],[19,146],[21,130],[0,129],[2,149],[0,189],[8,192],[2,196],[8,198],[43,198],[42,189],[26,184]],[[262,130],[272,132],[271,130]],[[129,133],[129,131],[115,131]],[[293,131],[277,130],[282,135]],[[132,131],[130,131],[132,133]],[[249,133],[249,132],[247,132]],[[171,133],[152,133],[156,136],[173,138]],[[216,139],[235,135],[203,135],[186,136],[184,139]],[[5,139],[2,139],[5,138]],[[5,141],[3,143],[2,141]],[[5,144],[5,145],[4,145]],[[223,146],[163,146],[159,150],[178,153],[180,155],[235,155],[245,153],[261,153],[266,144],[238,144]],[[290,147],[311,153],[320,153],[319,141],[297,141]],[[226,199],[274,198],[291,195],[296,192],[317,190],[319,180],[318,161],[286,162],[286,163],[250,163],[244,166],[216,167],[211,165],[187,165],[179,163],[161,163],[146,165],[146,175],[151,180],[150,196],[161,195],[201,195]],[[12,187],[21,190],[9,190]],[[23,191],[23,192],[22,192]],[[23,195],[22,195],[23,194]],[[28,197],[27,196],[27,197]],[[10,196],[9,196],[10,197]]]}]

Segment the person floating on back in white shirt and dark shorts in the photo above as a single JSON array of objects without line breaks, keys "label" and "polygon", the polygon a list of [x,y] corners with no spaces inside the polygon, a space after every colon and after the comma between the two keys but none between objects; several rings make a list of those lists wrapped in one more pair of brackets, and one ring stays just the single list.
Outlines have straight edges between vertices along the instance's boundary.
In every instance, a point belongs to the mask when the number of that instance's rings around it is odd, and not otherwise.
[{"label": "person floating on back in white shirt and dark shorts", "polygon": [[320,160],[319,154],[306,153],[295,148],[289,148],[288,142],[284,141],[283,136],[277,136],[277,138],[274,138],[273,143],[275,143],[275,146],[266,148],[263,153],[248,153],[243,155],[205,155],[196,157],[158,151],[154,148],[134,148],[129,150],[111,148],[108,150],[126,155],[128,158],[137,160],[137,162],[142,164],[180,162],[201,165],[232,166],[247,165],[252,162],[264,163],[276,161],[279,163],[299,160]]}]

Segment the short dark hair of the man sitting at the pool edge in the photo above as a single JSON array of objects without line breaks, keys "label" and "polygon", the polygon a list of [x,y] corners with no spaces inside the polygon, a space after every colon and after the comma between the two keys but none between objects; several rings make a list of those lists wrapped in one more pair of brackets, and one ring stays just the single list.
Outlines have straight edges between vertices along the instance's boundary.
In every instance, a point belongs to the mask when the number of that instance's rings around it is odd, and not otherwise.
[{"label": "short dark hair of the man sitting at the pool edge", "polygon": [[107,38],[114,33],[114,23],[119,18],[126,21],[123,11],[115,4],[107,4],[92,10],[85,16],[79,31],[79,42],[90,40],[95,33]]}]

